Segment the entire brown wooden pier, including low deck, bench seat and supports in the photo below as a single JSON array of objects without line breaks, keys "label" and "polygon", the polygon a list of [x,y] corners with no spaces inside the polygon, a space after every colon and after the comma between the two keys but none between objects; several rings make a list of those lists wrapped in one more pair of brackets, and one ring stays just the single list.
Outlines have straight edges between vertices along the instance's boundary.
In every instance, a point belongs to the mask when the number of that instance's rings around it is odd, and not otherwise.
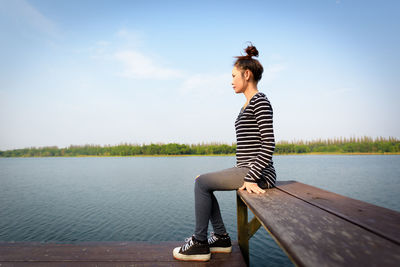
[{"label": "entire brown wooden pier, including low deck, bench seat and supports", "polygon": [[[248,221],[248,209],[254,218]],[[246,266],[249,239],[263,226],[296,266],[399,266],[400,213],[295,181],[264,194],[237,191],[238,241],[209,262],[172,256],[179,241],[0,242],[0,267]],[[265,255],[268,255],[265,251]]]}]

